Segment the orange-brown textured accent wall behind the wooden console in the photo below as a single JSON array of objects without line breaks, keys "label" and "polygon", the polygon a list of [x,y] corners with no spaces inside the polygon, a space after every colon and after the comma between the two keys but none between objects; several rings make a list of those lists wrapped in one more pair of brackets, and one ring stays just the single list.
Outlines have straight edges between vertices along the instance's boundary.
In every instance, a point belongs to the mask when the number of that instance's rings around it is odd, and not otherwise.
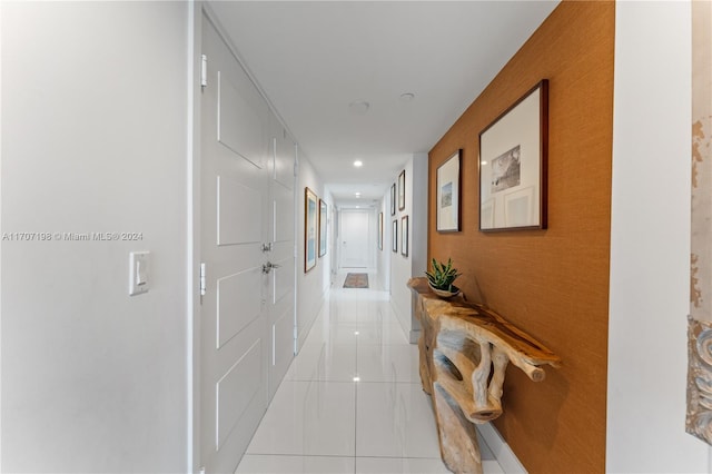
[{"label": "orange-brown textured accent wall behind the wooden console", "polygon": [[[530,473],[605,471],[613,2],[563,2],[429,152],[428,257],[558,354],[542,383],[510,366],[495,426]],[[464,58],[463,60],[466,60]],[[550,80],[548,229],[478,231],[478,134]],[[435,230],[437,167],[463,149],[462,231]]]}]

